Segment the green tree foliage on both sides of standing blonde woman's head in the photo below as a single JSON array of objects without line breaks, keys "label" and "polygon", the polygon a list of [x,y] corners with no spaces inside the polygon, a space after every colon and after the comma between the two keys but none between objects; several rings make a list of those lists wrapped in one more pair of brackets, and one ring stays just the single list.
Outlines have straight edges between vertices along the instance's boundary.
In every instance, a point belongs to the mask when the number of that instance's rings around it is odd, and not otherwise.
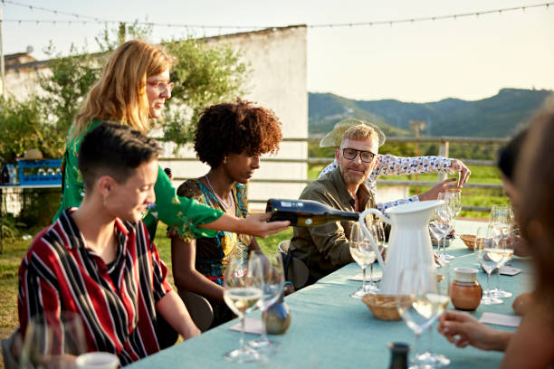
[{"label": "green tree foliage on both sides of standing blonde woman's head", "polygon": [[[129,39],[148,41],[150,25],[119,24],[106,28],[96,38],[98,53],[89,53],[74,44],[69,55],[46,48],[49,71],[39,76],[40,96],[24,101],[0,100],[0,156],[14,162],[29,148],[38,148],[46,158],[61,157],[68,128],[81,108],[92,84],[100,78],[101,68],[111,51]],[[187,39],[164,43],[175,57],[171,79],[175,82],[172,99],[167,100],[161,139],[177,146],[193,136],[196,120],[205,107],[233,100],[243,90],[248,73],[241,53],[229,45],[212,46],[204,40]]]}]

